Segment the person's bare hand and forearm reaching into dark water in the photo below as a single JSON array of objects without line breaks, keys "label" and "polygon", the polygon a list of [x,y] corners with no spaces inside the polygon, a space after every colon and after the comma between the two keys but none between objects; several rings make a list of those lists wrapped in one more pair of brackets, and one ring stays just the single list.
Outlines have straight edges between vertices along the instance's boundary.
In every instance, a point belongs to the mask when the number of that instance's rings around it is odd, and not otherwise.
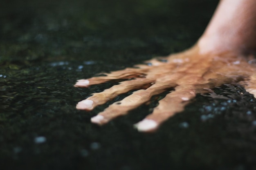
[{"label": "person's bare hand and forearm reaching into dark water", "polygon": [[103,125],[148,102],[153,95],[172,90],[159,101],[153,113],[135,124],[139,131],[152,132],[184,110],[196,94],[212,93],[211,88],[216,86],[236,82],[256,96],[256,66],[252,55],[256,51],[255,9],[255,0],[221,0],[203,35],[191,49],[161,58],[166,62],[152,59],[146,61],[150,64],[78,80],[75,87],[129,79],[94,93],[76,108],[92,110],[119,94],[137,90],[92,117],[92,123]]}]

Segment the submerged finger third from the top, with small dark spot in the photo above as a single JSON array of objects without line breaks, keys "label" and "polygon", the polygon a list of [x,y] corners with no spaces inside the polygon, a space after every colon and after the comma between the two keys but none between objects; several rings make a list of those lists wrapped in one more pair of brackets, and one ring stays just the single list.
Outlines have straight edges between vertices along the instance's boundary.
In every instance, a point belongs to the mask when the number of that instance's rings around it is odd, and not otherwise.
[{"label": "submerged finger third from the top, with small dark spot", "polygon": [[166,89],[170,88],[172,85],[173,84],[154,84],[146,90],[135,91],[132,95],[119,102],[115,102],[97,116],[92,117],[91,121],[102,125],[115,117],[126,115],[129,110],[135,109],[141,104],[148,102],[153,95],[166,91]]}]

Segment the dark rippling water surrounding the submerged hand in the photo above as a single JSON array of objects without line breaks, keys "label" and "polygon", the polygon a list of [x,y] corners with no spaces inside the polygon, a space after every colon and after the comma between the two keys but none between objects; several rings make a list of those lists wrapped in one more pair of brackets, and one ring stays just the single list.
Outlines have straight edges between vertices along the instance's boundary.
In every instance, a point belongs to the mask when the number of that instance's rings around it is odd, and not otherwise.
[{"label": "dark rippling water surrounding the submerged hand", "polygon": [[77,79],[193,45],[216,0],[20,1],[1,5],[0,164],[3,170],[253,170],[256,100],[237,84],[197,95],[157,132],[132,125],[157,101],[102,127],[76,110],[90,93]]}]

